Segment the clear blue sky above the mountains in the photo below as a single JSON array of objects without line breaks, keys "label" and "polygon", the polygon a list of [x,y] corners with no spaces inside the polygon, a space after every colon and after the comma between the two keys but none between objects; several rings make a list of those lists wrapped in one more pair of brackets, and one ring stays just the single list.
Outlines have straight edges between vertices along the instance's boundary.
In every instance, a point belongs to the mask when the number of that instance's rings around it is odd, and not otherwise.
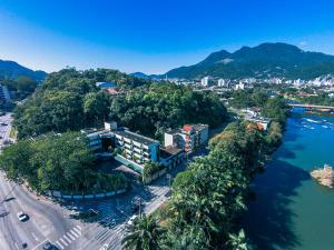
[{"label": "clear blue sky above the mountains", "polygon": [[267,41],[334,54],[332,0],[0,0],[0,59],[164,73]]}]

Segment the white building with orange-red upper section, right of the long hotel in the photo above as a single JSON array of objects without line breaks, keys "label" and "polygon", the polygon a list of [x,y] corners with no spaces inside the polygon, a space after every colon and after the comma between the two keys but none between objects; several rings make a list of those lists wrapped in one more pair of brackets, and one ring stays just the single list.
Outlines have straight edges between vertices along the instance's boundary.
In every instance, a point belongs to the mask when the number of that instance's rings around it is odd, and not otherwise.
[{"label": "white building with orange-red upper section, right of the long hotel", "polygon": [[184,149],[187,153],[206,143],[208,140],[207,124],[185,124],[181,129],[165,132],[165,147]]}]

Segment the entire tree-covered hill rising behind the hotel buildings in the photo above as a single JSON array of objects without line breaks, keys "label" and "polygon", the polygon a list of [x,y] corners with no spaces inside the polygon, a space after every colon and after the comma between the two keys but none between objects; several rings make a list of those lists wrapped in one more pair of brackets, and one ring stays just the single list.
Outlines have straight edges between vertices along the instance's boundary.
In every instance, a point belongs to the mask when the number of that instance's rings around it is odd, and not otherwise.
[{"label": "entire tree-covered hill rising behind the hotel buildings", "polygon": [[[109,96],[96,87],[97,81],[115,81],[118,88],[127,89],[127,94]],[[214,93],[195,92],[166,82],[151,84],[104,69],[66,69],[51,73],[14,113],[19,138],[97,127],[107,119],[159,138],[165,128],[188,122],[215,127],[226,118],[226,110]]]}]

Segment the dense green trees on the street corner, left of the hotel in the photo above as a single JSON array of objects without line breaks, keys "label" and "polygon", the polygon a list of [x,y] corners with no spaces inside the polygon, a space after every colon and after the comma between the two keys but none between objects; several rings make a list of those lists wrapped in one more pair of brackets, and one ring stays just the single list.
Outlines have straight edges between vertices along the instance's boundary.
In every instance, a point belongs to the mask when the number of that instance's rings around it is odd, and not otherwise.
[{"label": "dense green trees on the street corner, left of the hotel", "polygon": [[95,156],[80,133],[46,134],[4,148],[0,168],[11,179],[22,179],[39,191],[71,192],[116,190],[126,187],[121,174],[94,170]]}]

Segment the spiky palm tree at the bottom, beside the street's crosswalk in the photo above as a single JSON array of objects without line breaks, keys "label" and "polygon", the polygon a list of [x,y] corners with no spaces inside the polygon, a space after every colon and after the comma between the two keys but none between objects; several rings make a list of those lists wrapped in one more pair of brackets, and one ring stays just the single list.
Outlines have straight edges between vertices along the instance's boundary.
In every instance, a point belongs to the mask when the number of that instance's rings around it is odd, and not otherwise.
[{"label": "spiky palm tree at the bottom, beside the street's crosswalk", "polygon": [[124,250],[159,250],[165,229],[154,217],[141,217],[128,227],[129,233],[122,239]]}]

